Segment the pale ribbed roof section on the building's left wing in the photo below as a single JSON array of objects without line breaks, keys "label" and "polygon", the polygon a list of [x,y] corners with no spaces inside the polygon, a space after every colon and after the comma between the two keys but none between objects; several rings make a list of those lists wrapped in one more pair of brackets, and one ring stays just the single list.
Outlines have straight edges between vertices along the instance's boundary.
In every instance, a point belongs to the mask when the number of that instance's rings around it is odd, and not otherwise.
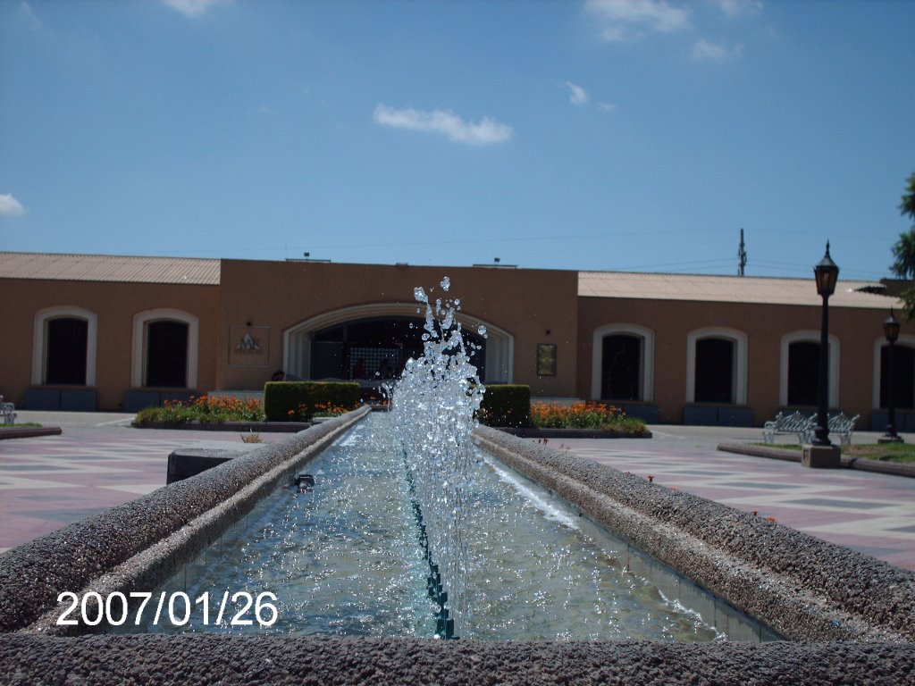
[{"label": "pale ribbed roof section on the building's left wing", "polygon": [[0,278],[219,285],[220,261],[183,257],[0,252]]}]

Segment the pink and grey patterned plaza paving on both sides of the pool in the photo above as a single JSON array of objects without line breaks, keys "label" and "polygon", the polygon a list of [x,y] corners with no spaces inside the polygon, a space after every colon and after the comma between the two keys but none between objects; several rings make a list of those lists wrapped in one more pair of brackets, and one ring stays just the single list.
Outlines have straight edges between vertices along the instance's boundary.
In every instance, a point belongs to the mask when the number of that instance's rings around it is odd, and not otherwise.
[{"label": "pink and grey patterned plaza paving on both sides of the pool", "polygon": [[[0,441],[0,552],[165,485],[168,454],[233,432],[133,429],[133,415],[31,413],[18,421],[63,434]],[[915,479],[738,456],[721,442],[761,429],[654,426],[651,439],[553,439],[550,446],[694,493],[915,570]],[[264,442],[287,434],[261,434]],[[915,434],[906,434],[908,443]],[[781,439],[788,442],[788,439]],[[856,443],[877,434],[860,432]]]}]

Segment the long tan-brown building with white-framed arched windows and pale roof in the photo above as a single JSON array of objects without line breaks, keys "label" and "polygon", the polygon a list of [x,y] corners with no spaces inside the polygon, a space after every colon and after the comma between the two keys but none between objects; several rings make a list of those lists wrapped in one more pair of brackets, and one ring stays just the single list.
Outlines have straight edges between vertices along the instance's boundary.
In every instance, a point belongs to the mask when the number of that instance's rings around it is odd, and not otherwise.
[{"label": "long tan-brown building with white-framed arched windows and pale roof", "polygon": [[[451,289],[439,285],[448,276]],[[422,347],[414,287],[458,298],[484,381],[609,400],[650,422],[761,424],[813,411],[813,278],[0,253],[0,393],[17,406],[134,411],[274,372],[376,386]],[[882,428],[882,323],[896,299],[842,281],[830,300],[830,405]],[[479,333],[485,328],[485,335]],[[915,430],[915,327],[896,356]]]}]

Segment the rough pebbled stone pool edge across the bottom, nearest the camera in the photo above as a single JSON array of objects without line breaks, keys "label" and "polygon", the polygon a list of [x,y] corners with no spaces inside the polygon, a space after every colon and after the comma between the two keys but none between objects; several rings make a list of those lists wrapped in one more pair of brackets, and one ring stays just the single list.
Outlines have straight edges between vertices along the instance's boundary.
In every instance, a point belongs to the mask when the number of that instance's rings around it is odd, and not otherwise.
[{"label": "rough pebbled stone pool edge across the bottom, nearest the camera", "polygon": [[910,684],[911,644],[441,641],[201,635],[0,637],[0,682],[34,684]]}]

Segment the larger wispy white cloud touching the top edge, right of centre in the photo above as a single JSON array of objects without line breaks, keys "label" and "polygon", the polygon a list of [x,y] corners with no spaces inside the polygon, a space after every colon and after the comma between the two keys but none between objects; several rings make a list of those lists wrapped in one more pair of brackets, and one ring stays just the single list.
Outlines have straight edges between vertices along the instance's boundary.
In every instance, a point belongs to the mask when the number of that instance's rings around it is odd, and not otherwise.
[{"label": "larger wispy white cloud touching the top edge, right of centre", "polygon": [[587,0],[585,6],[600,17],[600,35],[605,40],[628,40],[690,27],[689,10],[666,0]]}]

